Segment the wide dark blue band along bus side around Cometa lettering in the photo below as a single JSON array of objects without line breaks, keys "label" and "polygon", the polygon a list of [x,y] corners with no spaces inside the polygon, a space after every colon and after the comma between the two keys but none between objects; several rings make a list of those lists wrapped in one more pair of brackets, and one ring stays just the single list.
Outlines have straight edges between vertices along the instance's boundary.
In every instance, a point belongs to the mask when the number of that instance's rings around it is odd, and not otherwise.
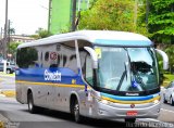
[{"label": "wide dark blue band along bus side around Cometa lettering", "polygon": [[[61,73],[61,80],[45,80],[45,71],[49,71],[50,73],[57,72]],[[16,80],[25,80],[33,82],[57,82],[57,84],[66,84],[71,85],[72,79],[74,79],[76,85],[85,85],[82,75],[74,73],[70,68],[18,68],[16,71]]]}]

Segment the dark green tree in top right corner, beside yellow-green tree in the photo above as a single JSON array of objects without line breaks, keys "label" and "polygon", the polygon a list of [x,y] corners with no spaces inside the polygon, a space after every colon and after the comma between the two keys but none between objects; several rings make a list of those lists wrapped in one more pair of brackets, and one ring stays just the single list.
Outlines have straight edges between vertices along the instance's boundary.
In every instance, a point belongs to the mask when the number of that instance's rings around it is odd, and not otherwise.
[{"label": "dark green tree in top right corner, beside yellow-green tree", "polygon": [[149,33],[158,43],[174,42],[174,0],[149,0]]}]

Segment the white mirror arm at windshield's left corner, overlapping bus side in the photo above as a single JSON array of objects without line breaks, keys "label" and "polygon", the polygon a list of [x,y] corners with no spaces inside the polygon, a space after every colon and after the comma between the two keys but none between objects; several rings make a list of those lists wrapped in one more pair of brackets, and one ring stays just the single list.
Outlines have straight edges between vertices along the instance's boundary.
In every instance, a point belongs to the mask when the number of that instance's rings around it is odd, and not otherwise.
[{"label": "white mirror arm at windshield's left corner, overlapping bus side", "polygon": [[98,68],[98,57],[97,57],[96,51],[90,47],[84,47],[84,49],[89,52],[89,54],[92,59],[92,67]]}]

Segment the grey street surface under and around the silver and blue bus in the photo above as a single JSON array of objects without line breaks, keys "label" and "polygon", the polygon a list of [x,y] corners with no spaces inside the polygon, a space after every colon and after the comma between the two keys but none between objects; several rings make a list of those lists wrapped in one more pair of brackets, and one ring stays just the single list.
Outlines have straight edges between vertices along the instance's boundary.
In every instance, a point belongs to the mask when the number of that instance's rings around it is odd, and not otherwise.
[{"label": "grey street surface under and around the silver and blue bus", "polygon": [[[2,76],[0,75],[0,89],[14,90],[14,76]],[[14,90],[15,91],[15,90]],[[1,117],[2,116],[2,117]],[[8,128],[115,128],[115,127],[135,127],[130,124],[124,124],[122,119],[117,120],[97,120],[85,118],[83,124],[76,124],[70,114],[42,110],[37,114],[30,114],[27,110],[26,104],[21,104],[15,100],[15,97],[0,97],[0,119],[5,123]],[[158,119],[137,119],[136,124],[157,123],[163,125],[165,128],[172,128],[174,120],[174,106],[170,104],[163,104],[161,107],[161,115]],[[145,126],[145,124],[144,124]],[[157,126],[157,125],[154,125]],[[138,126],[142,128],[141,126]],[[150,127],[150,126],[147,126]]]}]

